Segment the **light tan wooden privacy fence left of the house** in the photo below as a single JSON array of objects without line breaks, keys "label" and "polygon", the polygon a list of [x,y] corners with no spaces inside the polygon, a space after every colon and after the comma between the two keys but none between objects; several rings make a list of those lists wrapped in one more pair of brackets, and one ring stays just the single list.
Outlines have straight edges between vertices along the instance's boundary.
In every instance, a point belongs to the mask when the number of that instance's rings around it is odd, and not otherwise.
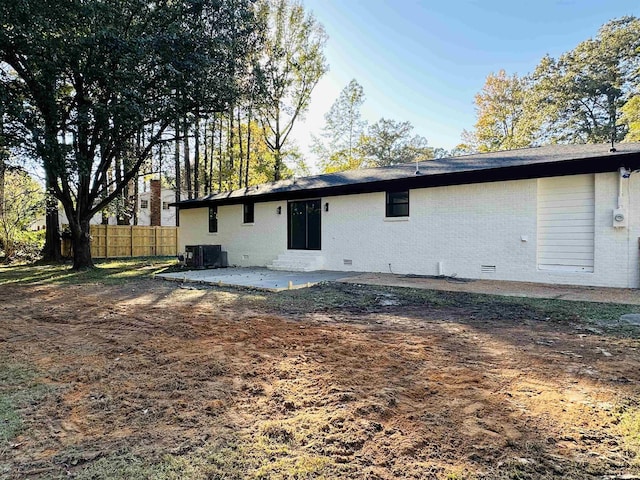
[{"label": "light tan wooden privacy fence left of the house", "polygon": [[[63,238],[62,255],[71,254],[71,240]],[[93,258],[173,256],[178,253],[178,227],[91,225]]]}]

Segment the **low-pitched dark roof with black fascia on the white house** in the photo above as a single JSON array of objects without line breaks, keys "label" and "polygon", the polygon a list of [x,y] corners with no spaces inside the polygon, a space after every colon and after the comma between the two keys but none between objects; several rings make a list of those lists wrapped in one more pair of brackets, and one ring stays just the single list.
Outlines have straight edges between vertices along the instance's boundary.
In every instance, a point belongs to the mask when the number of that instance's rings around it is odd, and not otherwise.
[{"label": "low-pitched dark roof with black fascia on the white house", "polygon": [[184,200],[180,208],[369,193],[640,168],[640,143],[548,145],[328,173]]}]

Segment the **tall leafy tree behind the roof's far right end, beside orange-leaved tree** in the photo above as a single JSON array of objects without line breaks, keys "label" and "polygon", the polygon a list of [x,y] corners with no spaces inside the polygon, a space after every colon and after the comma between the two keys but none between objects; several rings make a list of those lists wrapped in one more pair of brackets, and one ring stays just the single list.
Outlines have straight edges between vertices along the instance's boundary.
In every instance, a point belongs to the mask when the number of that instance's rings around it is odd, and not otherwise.
[{"label": "tall leafy tree behind the roof's far right end, beside orange-leaved tree", "polygon": [[533,79],[543,141],[595,143],[621,140],[621,107],[637,82],[640,20],[624,17],[603,25],[595,38],[557,60],[546,56]]}]

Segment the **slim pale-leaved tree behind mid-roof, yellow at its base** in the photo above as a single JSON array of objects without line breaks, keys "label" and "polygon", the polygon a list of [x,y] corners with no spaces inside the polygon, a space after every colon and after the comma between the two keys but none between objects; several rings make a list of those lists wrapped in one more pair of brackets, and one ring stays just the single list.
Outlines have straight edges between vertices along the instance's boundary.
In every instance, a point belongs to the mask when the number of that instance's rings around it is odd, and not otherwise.
[{"label": "slim pale-leaved tree behind mid-roof, yellow at its base", "polygon": [[320,138],[314,137],[312,150],[325,172],[352,170],[364,166],[360,137],[366,122],[360,108],[365,96],[362,86],[353,79],[342,89],[325,114]]}]

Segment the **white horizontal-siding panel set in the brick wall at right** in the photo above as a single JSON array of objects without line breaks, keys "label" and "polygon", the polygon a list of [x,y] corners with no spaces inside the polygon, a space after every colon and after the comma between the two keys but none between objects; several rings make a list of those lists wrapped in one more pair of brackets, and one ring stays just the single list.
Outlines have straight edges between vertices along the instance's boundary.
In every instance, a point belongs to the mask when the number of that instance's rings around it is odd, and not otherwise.
[{"label": "white horizontal-siding panel set in the brick wall at right", "polygon": [[593,175],[538,179],[538,268],[593,272]]}]

